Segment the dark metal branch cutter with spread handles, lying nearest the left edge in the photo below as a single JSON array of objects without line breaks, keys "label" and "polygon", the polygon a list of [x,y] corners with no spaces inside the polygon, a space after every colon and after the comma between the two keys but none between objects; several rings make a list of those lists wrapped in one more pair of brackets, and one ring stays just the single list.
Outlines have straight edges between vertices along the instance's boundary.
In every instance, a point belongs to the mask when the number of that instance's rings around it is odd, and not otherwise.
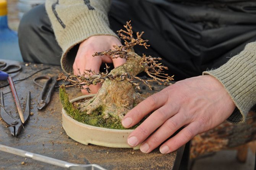
[{"label": "dark metal branch cutter with spread handles, lying nearest the left edge", "polygon": [[29,120],[29,115],[30,115],[30,92],[28,92],[28,97],[27,97],[27,103],[26,103],[26,108],[25,111],[23,113],[23,117],[24,117],[24,123],[21,122],[21,119],[19,118],[18,120],[11,117],[5,110],[5,104],[4,104],[4,100],[3,100],[3,92],[1,92],[0,94],[1,97],[1,117],[3,119],[3,121],[5,121],[5,123],[7,125],[9,125],[9,131],[11,132],[12,136],[17,136],[19,134],[19,132],[21,131],[21,128],[23,127],[23,125],[25,125],[28,120]]}]

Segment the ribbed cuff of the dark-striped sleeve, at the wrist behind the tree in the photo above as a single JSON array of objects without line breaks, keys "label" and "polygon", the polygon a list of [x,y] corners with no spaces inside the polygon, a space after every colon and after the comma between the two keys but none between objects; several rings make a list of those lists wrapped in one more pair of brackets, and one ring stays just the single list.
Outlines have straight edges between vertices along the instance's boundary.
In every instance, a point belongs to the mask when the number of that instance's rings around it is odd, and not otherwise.
[{"label": "ribbed cuff of the dark-striped sleeve, at the wrist behind the tree", "polygon": [[73,61],[75,56],[68,56],[68,52],[76,44],[83,42],[87,38],[95,35],[110,35],[118,37],[110,28],[102,13],[83,13],[75,18],[69,27],[66,27],[59,39],[63,54],[61,58],[62,69],[66,73],[73,72]]}]

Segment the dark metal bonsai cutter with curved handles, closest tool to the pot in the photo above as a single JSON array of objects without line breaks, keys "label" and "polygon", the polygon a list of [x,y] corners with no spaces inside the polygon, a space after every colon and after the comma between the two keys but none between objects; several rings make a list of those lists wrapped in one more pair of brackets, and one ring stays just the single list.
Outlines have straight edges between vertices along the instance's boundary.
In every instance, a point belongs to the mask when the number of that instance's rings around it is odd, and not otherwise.
[{"label": "dark metal bonsai cutter with curved handles, closest tool to the pot", "polygon": [[[39,79],[47,79],[47,81],[44,83],[44,86],[42,86],[41,84],[36,82]],[[39,77],[34,78],[33,82],[37,86],[43,88],[42,91],[40,92],[38,99],[37,99],[37,109],[41,110],[49,104],[53,90],[55,89],[55,87],[58,87],[57,77],[52,78],[52,77],[46,76],[46,75],[39,76]],[[49,87],[51,82],[52,82],[52,85]],[[68,84],[70,84],[70,83],[69,82],[65,83],[65,85],[68,85]],[[47,87],[49,87],[49,91],[48,91]],[[47,91],[48,91],[48,93],[47,93],[47,95],[45,95]],[[44,96],[46,96],[45,99],[43,99]]]}]

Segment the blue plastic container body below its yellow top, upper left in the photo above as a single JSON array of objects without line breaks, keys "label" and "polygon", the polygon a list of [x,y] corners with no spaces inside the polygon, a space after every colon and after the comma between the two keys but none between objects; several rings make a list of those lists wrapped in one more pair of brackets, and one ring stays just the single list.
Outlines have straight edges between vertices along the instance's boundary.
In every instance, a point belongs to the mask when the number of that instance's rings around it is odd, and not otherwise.
[{"label": "blue plastic container body below its yellow top, upper left", "polygon": [[0,16],[0,59],[23,62],[18,35],[7,24],[7,15]]}]

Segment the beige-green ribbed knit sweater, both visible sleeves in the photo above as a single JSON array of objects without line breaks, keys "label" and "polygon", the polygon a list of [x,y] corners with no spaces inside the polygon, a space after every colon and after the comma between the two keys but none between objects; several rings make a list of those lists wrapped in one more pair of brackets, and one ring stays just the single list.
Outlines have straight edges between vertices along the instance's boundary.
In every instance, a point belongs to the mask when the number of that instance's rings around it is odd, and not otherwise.
[{"label": "beige-green ribbed knit sweater, both visible sleeves", "polygon": [[[68,52],[76,44],[94,35],[117,35],[109,28],[107,17],[110,0],[46,0],[45,9],[52,23],[58,44],[63,50],[61,65],[72,72],[74,58]],[[237,108],[228,118],[244,122],[256,104],[256,42],[215,70],[204,71],[218,79],[230,94]]]}]

